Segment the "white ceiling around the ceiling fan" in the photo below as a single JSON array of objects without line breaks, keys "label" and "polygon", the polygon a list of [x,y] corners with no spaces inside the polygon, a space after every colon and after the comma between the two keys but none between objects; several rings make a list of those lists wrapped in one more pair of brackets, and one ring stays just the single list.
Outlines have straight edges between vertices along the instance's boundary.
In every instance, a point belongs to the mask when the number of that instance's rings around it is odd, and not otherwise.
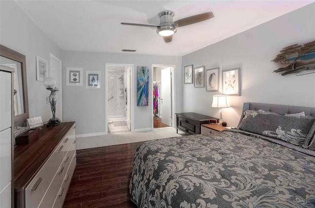
[{"label": "white ceiling around the ceiling fan", "polygon": [[[305,6],[314,0],[16,0],[62,50],[183,56]],[[156,29],[121,22],[159,24],[212,11],[214,18],[181,27],[164,43]]]}]

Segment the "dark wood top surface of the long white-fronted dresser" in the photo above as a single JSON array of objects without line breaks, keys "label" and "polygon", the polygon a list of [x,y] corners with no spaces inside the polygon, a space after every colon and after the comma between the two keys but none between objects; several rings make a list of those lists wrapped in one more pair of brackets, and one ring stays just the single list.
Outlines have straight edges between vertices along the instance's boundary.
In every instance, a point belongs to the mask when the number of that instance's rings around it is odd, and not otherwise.
[{"label": "dark wood top surface of the long white-fronted dresser", "polygon": [[25,189],[29,180],[43,166],[53,150],[60,143],[74,122],[64,122],[60,126],[42,126],[38,139],[29,145],[14,147],[14,189]]}]

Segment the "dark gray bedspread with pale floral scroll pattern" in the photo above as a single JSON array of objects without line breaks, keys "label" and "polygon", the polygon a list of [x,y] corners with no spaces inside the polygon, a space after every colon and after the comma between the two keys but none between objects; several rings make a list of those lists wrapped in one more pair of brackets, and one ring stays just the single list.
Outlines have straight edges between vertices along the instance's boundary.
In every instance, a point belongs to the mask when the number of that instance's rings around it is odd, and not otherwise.
[{"label": "dark gray bedspread with pale floral scroll pattern", "polygon": [[230,131],[160,139],[129,188],[139,208],[314,208],[315,157]]}]

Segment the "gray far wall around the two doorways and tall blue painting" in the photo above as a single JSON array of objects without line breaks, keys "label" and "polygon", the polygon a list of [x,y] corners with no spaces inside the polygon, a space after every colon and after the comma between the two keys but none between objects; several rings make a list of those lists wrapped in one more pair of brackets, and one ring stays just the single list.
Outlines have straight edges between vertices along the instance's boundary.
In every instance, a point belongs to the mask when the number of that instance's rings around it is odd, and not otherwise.
[{"label": "gray far wall around the two doorways and tall blue painting", "polygon": [[[174,64],[176,112],[182,110],[182,73],[181,57],[126,55],[113,53],[92,53],[62,51],[63,60],[63,120],[75,120],[77,134],[94,134],[105,132],[105,63],[134,64],[133,80],[134,93],[137,91],[137,66],[148,66],[150,69],[149,92],[152,91],[151,64]],[[85,89],[82,87],[65,86],[66,67],[82,67],[83,79],[85,71],[101,71],[101,89]],[[149,93],[149,106],[137,106],[134,96],[134,129],[146,129],[152,126],[153,108],[151,108],[152,93]]]}]

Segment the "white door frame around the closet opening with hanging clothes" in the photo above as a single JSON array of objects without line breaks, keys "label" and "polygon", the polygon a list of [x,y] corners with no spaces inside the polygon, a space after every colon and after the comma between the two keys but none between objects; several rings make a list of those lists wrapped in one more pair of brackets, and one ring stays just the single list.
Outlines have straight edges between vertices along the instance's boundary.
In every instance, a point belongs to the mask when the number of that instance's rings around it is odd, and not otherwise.
[{"label": "white door frame around the closet opening with hanging clothes", "polygon": [[[171,72],[172,72],[172,126],[174,128],[175,126],[175,71],[176,71],[176,66],[173,64],[151,64],[151,69],[152,69],[152,73],[151,73],[151,94],[152,94],[152,98],[151,98],[151,115],[152,115],[152,125],[151,125],[151,129],[154,129],[154,113],[153,113],[153,67],[170,67],[171,68]],[[169,128],[169,127],[167,127]]]}]

